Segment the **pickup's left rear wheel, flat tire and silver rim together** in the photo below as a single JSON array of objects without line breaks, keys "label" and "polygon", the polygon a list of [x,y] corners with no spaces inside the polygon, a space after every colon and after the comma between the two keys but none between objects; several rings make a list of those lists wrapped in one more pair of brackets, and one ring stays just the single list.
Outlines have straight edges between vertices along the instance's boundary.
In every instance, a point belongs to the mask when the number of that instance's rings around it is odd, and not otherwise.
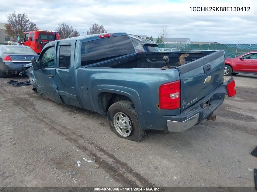
[{"label": "pickup's left rear wheel, flat tire and silver rim together", "polygon": [[113,103],[108,109],[107,118],[110,129],[117,136],[136,142],[144,138],[145,131],[139,126],[137,113],[131,101]]}]

